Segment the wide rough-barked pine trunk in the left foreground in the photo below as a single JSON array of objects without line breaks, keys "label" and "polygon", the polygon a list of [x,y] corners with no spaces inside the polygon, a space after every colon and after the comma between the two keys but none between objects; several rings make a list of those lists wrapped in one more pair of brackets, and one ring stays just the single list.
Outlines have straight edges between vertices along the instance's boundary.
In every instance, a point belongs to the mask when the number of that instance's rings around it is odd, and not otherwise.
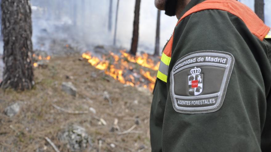
[{"label": "wide rough-barked pine trunk in the left foreground", "polygon": [[30,1],[2,0],[1,9],[5,68],[0,86],[4,89],[31,89],[34,74]]}]

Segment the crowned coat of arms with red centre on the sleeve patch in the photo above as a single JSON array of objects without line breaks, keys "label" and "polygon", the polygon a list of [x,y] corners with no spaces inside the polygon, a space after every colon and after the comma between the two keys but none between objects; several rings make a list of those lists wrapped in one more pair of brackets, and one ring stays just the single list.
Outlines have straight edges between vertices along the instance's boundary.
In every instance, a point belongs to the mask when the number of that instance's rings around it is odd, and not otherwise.
[{"label": "crowned coat of arms with red centre on the sleeve patch", "polygon": [[203,74],[200,68],[192,68],[188,76],[188,92],[190,95],[199,95],[203,89]]}]

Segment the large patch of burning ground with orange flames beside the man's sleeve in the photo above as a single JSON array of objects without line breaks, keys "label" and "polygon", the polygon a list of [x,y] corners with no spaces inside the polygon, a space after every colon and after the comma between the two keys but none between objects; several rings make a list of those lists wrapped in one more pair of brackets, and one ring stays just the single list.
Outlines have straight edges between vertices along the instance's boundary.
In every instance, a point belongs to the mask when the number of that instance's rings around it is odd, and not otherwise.
[{"label": "large patch of burning ground with orange flames beside the man's sleeve", "polygon": [[[152,90],[154,88],[156,76],[151,76],[150,71],[144,71],[149,68],[158,70],[159,62],[154,64],[154,61],[148,58],[148,54],[143,56],[133,57],[125,51],[120,51],[121,56],[110,53],[109,56],[103,56],[103,59],[94,57],[91,53],[83,53],[82,57],[97,69],[104,70],[104,73],[118,80],[122,84],[130,86],[144,87]],[[131,63],[137,63],[142,68],[136,70]]]}]

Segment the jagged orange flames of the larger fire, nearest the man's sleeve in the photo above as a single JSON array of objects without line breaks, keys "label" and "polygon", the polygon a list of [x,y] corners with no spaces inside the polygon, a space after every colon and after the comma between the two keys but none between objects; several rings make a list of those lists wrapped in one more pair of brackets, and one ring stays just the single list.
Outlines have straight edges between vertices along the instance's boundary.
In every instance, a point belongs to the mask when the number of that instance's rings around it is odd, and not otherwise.
[{"label": "jagged orange flames of the larger fire, nearest the man's sleeve", "polygon": [[[87,59],[88,62],[95,68],[104,70],[105,74],[113,77],[115,80],[118,80],[122,84],[127,84],[131,86],[138,86],[140,85],[140,82],[135,82],[135,77],[131,74],[128,76],[129,80],[125,80],[125,78],[123,77],[123,71],[125,69],[133,69],[133,67],[128,64],[127,60],[133,63],[140,64],[143,67],[150,68],[152,70],[158,70],[160,64],[159,62],[157,64],[154,64],[154,61],[148,58],[148,54],[133,57],[125,51],[121,51],[121,58],[112,52],[110,53],[110,55],[114,58],[113,63],[110,63],[109,60],[105,59],[105,57],[103,57],[103,59],[101,60],[98,57],[93,57],[91,56],[91,53],[83,53],[82,57]],[[116,68],[115,65],[118,65],[118,68]],[[140,74],[150,81],[148,85],[144,84],[143,87],[152,90],[154,88],[156,77],[151,76],[149,71],[144,71],[143,69],[140,69]]]}]

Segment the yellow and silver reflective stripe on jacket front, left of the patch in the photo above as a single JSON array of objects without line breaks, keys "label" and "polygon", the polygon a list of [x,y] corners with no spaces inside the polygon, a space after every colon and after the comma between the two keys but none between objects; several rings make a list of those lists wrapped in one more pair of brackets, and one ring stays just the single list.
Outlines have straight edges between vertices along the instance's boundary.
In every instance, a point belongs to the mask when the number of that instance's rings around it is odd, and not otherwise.
[{"label": "yellow and silver reflective stripe on jacket front, left of the patch", "polygon": [[157,72],[157,78],[167,82],[168,79],[168,65],[170,63],[171,57],[168,57],[166,54],[162,54],[161,62],[159,65],[159,70]]}]

